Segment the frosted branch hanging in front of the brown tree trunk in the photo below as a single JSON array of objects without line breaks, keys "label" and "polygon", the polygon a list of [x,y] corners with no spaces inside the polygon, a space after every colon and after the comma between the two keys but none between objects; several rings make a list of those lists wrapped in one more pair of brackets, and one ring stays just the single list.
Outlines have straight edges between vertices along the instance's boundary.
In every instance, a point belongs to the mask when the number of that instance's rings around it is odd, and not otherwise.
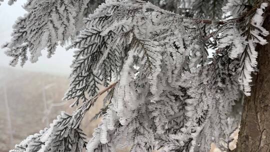
[{"label": "frosted branch hanging in front of the brown tree trunk", "polygon": [[[233,13],[236,9],[242,9],[240,7],[243,7],[243,4],[239,3],[239,0],[230,0],[223,10]],[[260,7],[248,10],[239,17],[241,19],[224,24],[212,34],[214,38],[218,38],[218,48],[227,49],[231,59],[239,59],[238,81],[245,95],[250,95],[251,73],[257,65],[256,44],[267,43],[263,36],[267,36],[269,32],[262,27],[266,7],[267,3],[261,3]]]}]

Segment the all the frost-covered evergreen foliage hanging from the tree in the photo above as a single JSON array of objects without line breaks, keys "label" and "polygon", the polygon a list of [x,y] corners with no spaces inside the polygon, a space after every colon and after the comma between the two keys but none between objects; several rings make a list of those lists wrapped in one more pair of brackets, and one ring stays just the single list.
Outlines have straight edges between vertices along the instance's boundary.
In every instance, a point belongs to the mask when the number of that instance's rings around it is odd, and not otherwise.
[{"label": "all the frost-covered evergreen foliage hanging from the tree", "polygon": [[[168,1],[152,0],[156,6],[142,0],[106,0],[82,24],[83,14],[91,11],[84,10],[87,0],[28,0],[28,13],[15,23],[13,38],[3,47],[15,65],[19,57],[25,62],[27,51],[35,61],[41,49],[50,56],[58,42],[71,40],[67,48],[74,49],[73,70],[64,99],[75,99],[72,105],[78,108],[71,115],[62,112],[49,128],[11,151],[129,147],[187,152],[208,151],[212,142],[226,150],[239,122],[230,114],[232,106],[239,89],[249,95],[255,46],[266,43],[268,31],[261,25],[267,3],[250,9],[244,0],[228,0],[222,12],[222,0],[206,0],[219,1],[213,11],[179,0],[194,17],[233,15],[205,36],[199,19],[160,8]],[[206,48],[214,50],[213,58]],[[106,88],[99,91],[100,85]],[[102,121],[85,141],[80,122],[104,92],[104,107],[96,115]]]}]

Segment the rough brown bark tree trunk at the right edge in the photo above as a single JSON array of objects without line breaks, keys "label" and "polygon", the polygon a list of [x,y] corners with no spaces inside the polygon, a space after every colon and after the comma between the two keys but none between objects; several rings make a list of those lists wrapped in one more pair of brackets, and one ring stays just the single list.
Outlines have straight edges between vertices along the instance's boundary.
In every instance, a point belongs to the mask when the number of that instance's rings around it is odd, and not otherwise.
[{"label": "rough brown bark tree trunk at the right edge", "polygon": [[[270,31],[270,8],[263,27]],[[270,151],[270,35],[268,44],[257,45],[258,72],[253,75],[251,96],[244,97],[237,152]]]}]

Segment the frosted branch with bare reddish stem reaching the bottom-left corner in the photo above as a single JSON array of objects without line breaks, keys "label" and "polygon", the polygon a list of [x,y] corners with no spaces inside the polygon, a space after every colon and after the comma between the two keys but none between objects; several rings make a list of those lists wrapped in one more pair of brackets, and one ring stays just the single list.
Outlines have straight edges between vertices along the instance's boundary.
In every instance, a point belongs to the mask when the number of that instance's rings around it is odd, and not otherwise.
[{"label": "frosted branch with bare reddish stem reaching the bottom-left corner", "polygon": [[15,146],[16,151],[51,151],[56,152],[71,151],[81,152],[85,147],[85,134],[79,128],[80,122],[84,114],[95,103],[96,99],[109,89],[112,89],[116,85],[116,82],[112,83],[92,99],[84,102],[79,108],[77,108],[72,115],[65,112],[61,112],[61,115],[57,116],[57,119],[53,120],[49,128],[40,130],[39,133],[28,136],[25,140]]}]

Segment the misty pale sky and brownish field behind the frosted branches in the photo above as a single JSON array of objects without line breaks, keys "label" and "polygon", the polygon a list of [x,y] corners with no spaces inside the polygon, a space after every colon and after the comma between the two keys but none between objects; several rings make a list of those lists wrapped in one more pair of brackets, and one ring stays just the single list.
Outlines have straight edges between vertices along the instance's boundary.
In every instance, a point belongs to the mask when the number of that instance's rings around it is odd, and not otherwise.
[{"label": "misty pale sky and brownish field behind the frosted branches", "polygon": [[[0,45],[10,40],[13,23],[25,13],[22,5],[26,0],[17,0],[11,6],[7,1],[0,5]],[[69,108],[71,101],[61,100],[68,88],[72,50],[58,47],[51,58],[43,50],[36,63],[27,61],[23,67],[9,66],[11,58],[4,50],[0,48],[0,152],[47,127],[60,111],[73,111]],[[96,123],[86,122],[83,127],[90,129],[85,133],[91,135]]]}]

